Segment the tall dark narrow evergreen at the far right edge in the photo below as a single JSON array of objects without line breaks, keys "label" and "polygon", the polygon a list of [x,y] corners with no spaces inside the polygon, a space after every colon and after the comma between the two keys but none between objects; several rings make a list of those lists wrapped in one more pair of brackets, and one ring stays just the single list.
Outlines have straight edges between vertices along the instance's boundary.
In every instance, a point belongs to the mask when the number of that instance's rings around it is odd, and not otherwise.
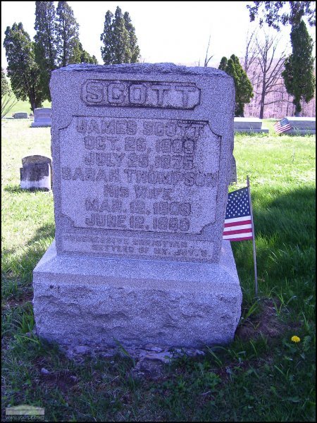
[{"label": "tall dark narrow evergreen at the far right edge", "polygon": [[294,99],[295,116],[302,111],[301,101],[306,103],[313,98],[315,78],[313,76],[313,39],[303,20],[292,26],[292,54],[285,61],[282,77],[288,94]]}]

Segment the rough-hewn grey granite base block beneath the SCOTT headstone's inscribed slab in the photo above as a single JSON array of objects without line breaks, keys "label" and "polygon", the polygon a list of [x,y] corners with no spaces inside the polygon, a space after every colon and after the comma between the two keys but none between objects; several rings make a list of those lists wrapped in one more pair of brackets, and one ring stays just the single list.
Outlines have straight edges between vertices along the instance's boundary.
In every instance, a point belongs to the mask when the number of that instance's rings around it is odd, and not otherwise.
[{"label": "rough-hewn grey granite base block beneath the SCOTT headstone's inscribed slab", "polygon": [[229,241],[219,264],[64,257],[52,243],[33,285],[38,335],[85,352],[229,343],[241,314]]}]

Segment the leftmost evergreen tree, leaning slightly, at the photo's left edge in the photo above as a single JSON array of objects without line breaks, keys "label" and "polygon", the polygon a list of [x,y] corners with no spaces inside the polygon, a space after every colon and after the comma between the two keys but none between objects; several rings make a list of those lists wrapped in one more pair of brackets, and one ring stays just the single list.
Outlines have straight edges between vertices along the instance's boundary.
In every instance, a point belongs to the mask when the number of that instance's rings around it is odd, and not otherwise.
[{"label": "leftmost evergreen tree, leaning slightly, at the photo's left edge", "polygon": [[35,63],[35,44],[23,29],[22,23],[7,27],[4,48],[8,61],[7,73],[15,97],[30,100],[31,109],[42,106],[44,95],[39,82],[39,68]]}]

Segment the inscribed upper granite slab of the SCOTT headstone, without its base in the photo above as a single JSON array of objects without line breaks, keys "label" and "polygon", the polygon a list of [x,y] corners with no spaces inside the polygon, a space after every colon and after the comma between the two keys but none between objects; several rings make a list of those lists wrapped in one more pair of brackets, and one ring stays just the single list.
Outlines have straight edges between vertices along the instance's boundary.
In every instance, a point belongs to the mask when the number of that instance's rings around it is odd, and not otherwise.
[{"label": "inscribed upper granite slab of the SCOTT headstone, without its base", "polygon": [[57,252],[218,262],[232,78],[172,63],[52,73]]}]

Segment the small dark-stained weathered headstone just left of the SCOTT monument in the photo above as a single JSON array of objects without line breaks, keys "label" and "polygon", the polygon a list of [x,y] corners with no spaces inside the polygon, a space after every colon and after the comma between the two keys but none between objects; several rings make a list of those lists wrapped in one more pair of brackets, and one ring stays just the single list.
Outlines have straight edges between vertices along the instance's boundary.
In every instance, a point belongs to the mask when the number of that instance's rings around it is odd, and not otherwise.
[{"label": "small dark-stained weathered headstone just left of the SCOTT monument", "polygon": [[20,188],[23,190],[51,190],[51,159],[40,155],[23,157],[20,168]]}]

